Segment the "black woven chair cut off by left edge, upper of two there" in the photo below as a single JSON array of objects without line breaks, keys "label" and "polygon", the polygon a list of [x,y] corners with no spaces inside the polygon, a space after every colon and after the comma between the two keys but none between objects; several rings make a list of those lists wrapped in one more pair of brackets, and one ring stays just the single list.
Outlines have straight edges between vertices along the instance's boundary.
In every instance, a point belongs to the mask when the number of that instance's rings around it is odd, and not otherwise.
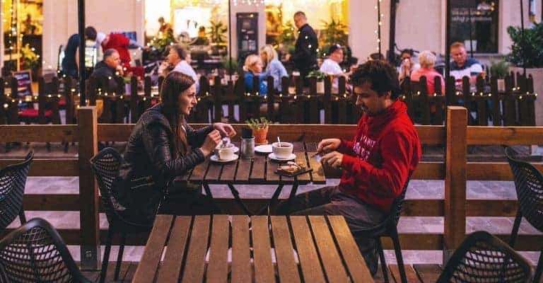
[{"label": "black woven chair cut off by left edge, upper of two there", "polygon": [[17,216],[21,224],[26,223],[23,195],[33,158],[34,151],[30,151],[22,163],[9,165],[0,170],[0,230],[6,229]]}]

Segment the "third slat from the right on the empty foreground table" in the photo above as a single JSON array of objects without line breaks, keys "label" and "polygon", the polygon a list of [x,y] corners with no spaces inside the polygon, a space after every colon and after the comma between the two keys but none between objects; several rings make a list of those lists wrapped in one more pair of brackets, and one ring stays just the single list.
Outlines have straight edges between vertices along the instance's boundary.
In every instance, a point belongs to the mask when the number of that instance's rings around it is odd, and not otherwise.
[{"label": "third slat from the right on the empty foreground table", "polygon": [[326,282],[305,216],[290,216],[304,282]]}]

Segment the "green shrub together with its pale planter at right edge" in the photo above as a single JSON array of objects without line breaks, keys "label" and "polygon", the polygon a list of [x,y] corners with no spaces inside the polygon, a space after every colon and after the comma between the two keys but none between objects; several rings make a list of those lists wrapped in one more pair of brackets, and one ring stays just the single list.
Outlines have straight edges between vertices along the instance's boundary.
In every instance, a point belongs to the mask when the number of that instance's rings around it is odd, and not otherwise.
[{"label": "green shrub together with its pale planter at right edge", "polygon": [[[526,74],[534,78],[535,93],[543,93],[543,23],[534,23],[533,28],[526,28],[524,36],[518,27],[508,27],[507,33],[513,41],[511,52],[507,61],[513,64],[513,71],[522,72],[522,65],[526,67]],[[543,126],[543,99],[535,100],[535,120],[537,126]]]}]

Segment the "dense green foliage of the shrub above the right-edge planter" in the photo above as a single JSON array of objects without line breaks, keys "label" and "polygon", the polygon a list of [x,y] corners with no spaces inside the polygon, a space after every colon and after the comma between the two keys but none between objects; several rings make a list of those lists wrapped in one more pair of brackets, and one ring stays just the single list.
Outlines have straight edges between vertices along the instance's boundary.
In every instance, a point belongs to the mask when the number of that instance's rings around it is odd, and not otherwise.
[{"label": "dense green foliage of the shrub above the right-edge planter", "polygon": [[543,68],[543,23],[534,23],[533,28],[526,28],[524,39],[518,27],[508,27],[507,33],[513,40],[506,58],[508,62],[517,67],[522,67],[524,62],[526,68]]}]

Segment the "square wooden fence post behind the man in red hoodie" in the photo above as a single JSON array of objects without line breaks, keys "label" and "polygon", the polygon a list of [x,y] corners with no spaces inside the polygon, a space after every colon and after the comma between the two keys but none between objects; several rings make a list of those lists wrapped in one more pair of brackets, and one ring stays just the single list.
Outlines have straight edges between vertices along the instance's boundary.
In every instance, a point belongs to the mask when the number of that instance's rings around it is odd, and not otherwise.
[{"label": "square wooden fence post behind the man in red hoodie", "polygon": [[447,108],[443,265],[460,246],[466,234],[467,115],[466,108]]}]

